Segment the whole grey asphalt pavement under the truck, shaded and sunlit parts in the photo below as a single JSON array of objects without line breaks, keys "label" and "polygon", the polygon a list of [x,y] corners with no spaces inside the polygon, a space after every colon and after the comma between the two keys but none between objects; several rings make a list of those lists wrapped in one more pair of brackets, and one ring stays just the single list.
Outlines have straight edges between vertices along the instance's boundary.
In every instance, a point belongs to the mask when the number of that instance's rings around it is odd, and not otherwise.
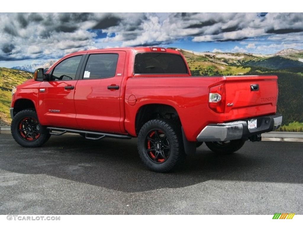
[{"label": "whole grey asphalt pavement under the truck, shaded and sunlit parts", "polygon": [[141,162],[137,140],[52,136],[40,148],[0,134],[0,214],[303,214],[303,143],[204,144],[173,173]]}]

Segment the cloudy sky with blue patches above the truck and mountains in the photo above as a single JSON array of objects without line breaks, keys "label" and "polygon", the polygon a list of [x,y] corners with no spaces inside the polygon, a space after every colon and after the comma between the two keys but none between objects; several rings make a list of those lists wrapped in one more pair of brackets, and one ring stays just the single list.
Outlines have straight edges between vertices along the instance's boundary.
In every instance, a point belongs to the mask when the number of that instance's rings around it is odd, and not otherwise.
[{"label": "cloudy sky with blue patches above the truck and mountains", "polygon": [[127,46],[272,54],[302,37],[303,13],[0,13],[0,67]]}]

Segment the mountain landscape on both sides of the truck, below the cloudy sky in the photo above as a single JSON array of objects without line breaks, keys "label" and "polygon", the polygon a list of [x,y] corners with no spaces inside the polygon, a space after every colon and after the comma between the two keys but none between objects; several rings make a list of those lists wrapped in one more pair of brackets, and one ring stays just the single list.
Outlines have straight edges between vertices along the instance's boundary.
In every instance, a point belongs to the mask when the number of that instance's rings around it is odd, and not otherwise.
[{"label": "mountain landscape on both sides of the truck, below the cloudy sky", "polygon": [[[195,52],[179,50],[186,58],[193,76],[265,75],[278,76],[278,113],[283,115],[281,130],[303,131],[303,50],[286,49],[276,54]],[[36,68],[49,68],[54,62],[0,68],[0,125],[10,123],[9,106],[12,87],[32,78]],[[21,71],[22,70],[22,71]]]}]

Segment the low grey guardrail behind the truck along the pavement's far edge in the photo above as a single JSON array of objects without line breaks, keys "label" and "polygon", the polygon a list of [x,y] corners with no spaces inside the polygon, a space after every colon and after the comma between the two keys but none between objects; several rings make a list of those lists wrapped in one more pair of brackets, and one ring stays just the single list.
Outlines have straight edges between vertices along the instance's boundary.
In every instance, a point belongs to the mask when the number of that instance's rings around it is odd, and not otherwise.
[{"label": "low grey guardrail behind the truck along the pavement's far edge", "polygon": [[[1,131],[8,133],[10,126],[0,126]],[[285,142],[303,142],[303,133],[297,132],[269,132],[262,134],[262,141],[285,141]]]}]

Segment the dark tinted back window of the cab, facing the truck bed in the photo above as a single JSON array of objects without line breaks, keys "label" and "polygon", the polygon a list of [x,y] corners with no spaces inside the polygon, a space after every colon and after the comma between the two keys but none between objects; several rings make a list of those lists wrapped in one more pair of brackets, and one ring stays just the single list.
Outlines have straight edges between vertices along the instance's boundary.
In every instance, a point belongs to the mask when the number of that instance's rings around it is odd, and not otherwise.
[{"label": "dark tinted back window of the cab, facing the truck bed", "polygon": [[177,54],[138,53],[135,74],[187,74],[183,58]]}]

